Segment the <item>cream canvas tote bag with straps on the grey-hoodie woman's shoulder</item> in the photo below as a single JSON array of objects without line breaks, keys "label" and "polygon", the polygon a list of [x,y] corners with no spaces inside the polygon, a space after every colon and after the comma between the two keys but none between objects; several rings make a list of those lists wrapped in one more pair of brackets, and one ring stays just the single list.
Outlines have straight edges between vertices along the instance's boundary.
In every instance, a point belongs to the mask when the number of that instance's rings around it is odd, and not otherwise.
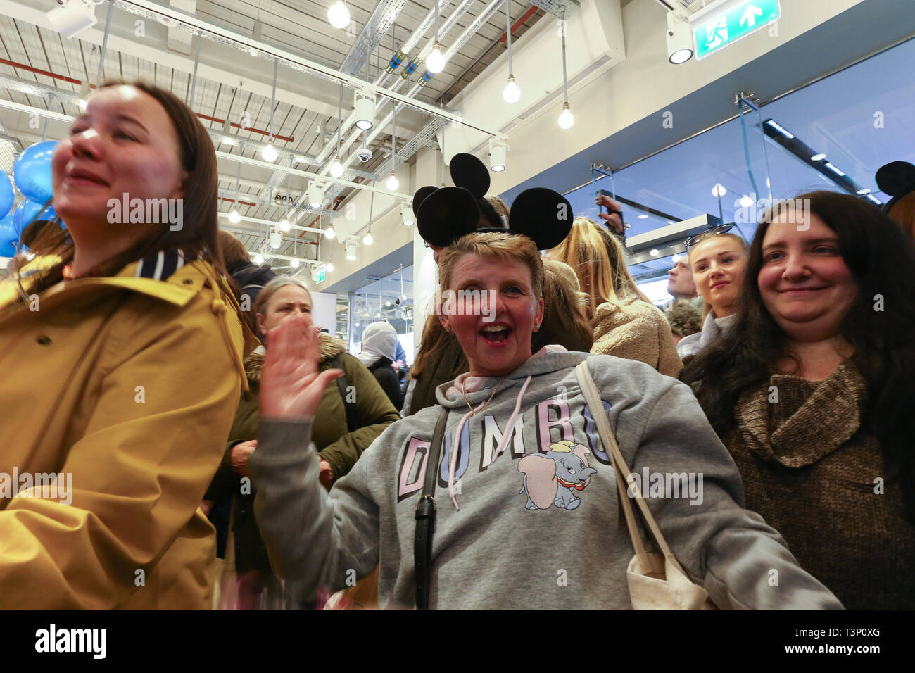
[{"label": "cream canvas tote bag with straps on the grey-hoodie woman's shoulder", "polygon": [[[587,361],[576,366],[576,377],[585,396],[591,417],[597,423],[597,433],[600,443],[613,461],[614,472],[617,476],[617,491],[626,516],[626,526],[629,528],[632,539],[632,548],[635,556],[630,560],[626,569],[626,580],[629,583],[630,600],[634,610],[716,610],[713,602],[709,601],[708,593],[698,584],[689,579],[680,562],[673,556],[671,548],[661,533],[651,510],[645,503],[637,483],[632,483],[632,492],[635,497],[627,494],[630,469],[623,460],[617,440],[613,437],[607,413],[600,401],[597,385],[588,371]],[[625,476],[624,476],[625,475]],[[645,520],[651,535],[654,537],[661,553],[649,552],[645,549],[645,541],[636,523],[635,512],[631,500],[639,505],[641,515]]]}]

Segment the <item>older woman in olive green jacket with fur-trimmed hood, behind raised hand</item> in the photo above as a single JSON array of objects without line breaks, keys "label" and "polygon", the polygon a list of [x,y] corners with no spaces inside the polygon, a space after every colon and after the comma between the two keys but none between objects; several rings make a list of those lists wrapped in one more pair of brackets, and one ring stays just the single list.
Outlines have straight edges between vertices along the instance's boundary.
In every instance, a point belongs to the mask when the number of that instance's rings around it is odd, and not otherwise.
[{"label": "older woman in olive green jacket with fur-trimmed hood, behind raised hand", "polygon": [[[261,290],[254,312],[258,327],[266,334],[291,315],[300,312],[310,315],[311,297],[298,281],[290,277],[276,277]],[[257,484],[250,482],[247,472],[248,457],[257,447],[258,392],[265,353],[261,346],[244,361],[250,391],[242,394],[220,470],[206,495],[212,500],[234,495],[232,530],[235,534],[235,568],[241,580],[239,605],[242,608],[254,607],[257,595],[265,587],[270,600],[274,597],[279,600],[280,597],[254,520],[255,491],[252,485],[256,488]],[[321,371],[333,368],[343,374],[337,382],[342,385],[328,385],[324,391],[312,430],[321,457],[321,483],[329,489],[332,483],[350,472],[372,440],[400,416],[366,366],[346,353],[343,342],[321,334],[318,361]],[[271,605],[275,607],[276,603]]]}]

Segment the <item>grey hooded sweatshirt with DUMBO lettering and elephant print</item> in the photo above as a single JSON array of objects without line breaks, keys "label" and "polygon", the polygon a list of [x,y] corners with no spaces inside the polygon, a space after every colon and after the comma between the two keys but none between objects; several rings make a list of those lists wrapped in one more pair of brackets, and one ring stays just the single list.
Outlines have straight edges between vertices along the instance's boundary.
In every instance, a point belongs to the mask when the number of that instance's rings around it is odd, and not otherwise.
[{"label": "grey hooded sweatshirt with DUMBO lettering and elephant print", "polygon": [[[440,386],[440,406],[385,429],[329,494],[318,483],[310,422],[262,418],[250,464],[276,573],[308,597],[345,588],[380,564],[381,606],[413,607],[414,512],[445,407],[430,607],[631,609],[626,569],[634,552],[576,380],[585,359],[662,533],[718,607],[842,608],[779,533],[743,508],[737,467],[686,385],[647,364],[561,347],[508,374],[475,416],[459,389]],[[467,393],[473,407],[499,383],[476,381]],[[510,421],[514,430],[501,441]],[[683,473],[682,488],[673,490],[669,475]]]}]

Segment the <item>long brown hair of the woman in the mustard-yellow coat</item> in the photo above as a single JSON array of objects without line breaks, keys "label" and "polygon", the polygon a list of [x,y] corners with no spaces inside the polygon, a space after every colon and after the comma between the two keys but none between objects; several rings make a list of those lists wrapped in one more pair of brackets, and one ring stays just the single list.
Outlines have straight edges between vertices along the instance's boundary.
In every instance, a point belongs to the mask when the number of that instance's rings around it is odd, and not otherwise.
[{"label": "long brown hair of the woman in the mustard-yellow coat", "polygon": [[[113,276],[131,262],[159,250],[180,249],[189,257],[199,256],[226,275],[216,235],[219,230],[219,169],[216,150],[207,129],[200,124],[197,114],[172,92],[142,81],[108,81],[99,89],[112,86],[132,86],[152,96],[171,119],[178,136],[181,165],[188,172],[185,199],[182,204],[183,219],[178,231],[171,231],[168,223],[163,223],[155,234],[137,242],[124,252],[103,260],[88,273],[92,276]],[[40,252],[53,253],[61,258],[58,265],[42,274],[44,287],[57,283],[62,277],[63,266],[73,259],[73,242],[70,234],[62,229],[54,231],[56,229],[57,224],[54,224],[51,233],[35,234],[37,239],[40,236]],[[20,255],[13,264],[13,268],[18,270],[27,264],[27,259]]]}]

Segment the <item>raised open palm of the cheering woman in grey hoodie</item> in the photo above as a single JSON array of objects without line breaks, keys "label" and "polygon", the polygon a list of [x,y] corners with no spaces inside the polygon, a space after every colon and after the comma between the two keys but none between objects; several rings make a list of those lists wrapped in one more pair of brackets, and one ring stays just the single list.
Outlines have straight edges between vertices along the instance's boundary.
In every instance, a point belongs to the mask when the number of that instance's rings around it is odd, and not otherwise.
[{"label": "raised open palm of the cheering woman in grey hoodie", "polygon": [[267,334],[261,418],[314,417],[324,389],[342,374],[339,369],[318,374],[318,328],[302,314],[286,318]]}]

